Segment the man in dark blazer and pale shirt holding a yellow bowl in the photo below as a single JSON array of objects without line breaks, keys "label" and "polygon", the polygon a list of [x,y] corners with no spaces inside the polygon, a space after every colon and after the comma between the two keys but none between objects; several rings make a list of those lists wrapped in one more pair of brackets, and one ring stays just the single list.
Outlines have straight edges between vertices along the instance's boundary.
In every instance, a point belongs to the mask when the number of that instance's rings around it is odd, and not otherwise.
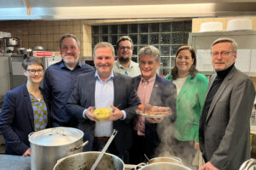
[{"label": "man in dark blazer and pale shirt holding a yellow bowl", "polygon": [[[108,42],[99,42],[94,48],[96,71],[79,75],[67,101],[67,111],[79,120],[84,141],[89,144],[84,151],[102,150],[113,129],[118,130],[108,152],[128,161],[132,144],[132,122],[137,105],[137,94],[131,85],[131,77],[112,71],[114,49]],[[94,108],[109,108],[113,113],[107,121],[100,122],[93,114]]]}]

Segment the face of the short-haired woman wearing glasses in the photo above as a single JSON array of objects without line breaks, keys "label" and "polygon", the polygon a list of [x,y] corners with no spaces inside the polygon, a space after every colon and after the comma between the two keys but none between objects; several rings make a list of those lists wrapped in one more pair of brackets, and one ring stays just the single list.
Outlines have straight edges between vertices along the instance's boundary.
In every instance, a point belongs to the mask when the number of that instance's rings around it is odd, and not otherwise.
[{"label": "face of the short-haired woman wearing glasses", "polygon": [[27,78],[27,82],[40,83],[44,77],[44,69],[42,65],[27,65],[24,75]]}]

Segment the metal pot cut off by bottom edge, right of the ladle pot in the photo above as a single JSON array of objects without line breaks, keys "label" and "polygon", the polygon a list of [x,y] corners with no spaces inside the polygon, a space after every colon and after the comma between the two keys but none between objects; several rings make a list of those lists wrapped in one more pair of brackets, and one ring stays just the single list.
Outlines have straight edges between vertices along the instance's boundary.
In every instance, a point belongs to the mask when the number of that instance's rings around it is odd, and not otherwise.
[{"label": "metal pot cut off by bottom edge, right of the ladle pot", "polygon": [[156,169],[157,170],[191,170],[189,167],[185,167],[177,163],[169,163],[169,162],[150,163],[139,169],[140,170],[156,170]]}]

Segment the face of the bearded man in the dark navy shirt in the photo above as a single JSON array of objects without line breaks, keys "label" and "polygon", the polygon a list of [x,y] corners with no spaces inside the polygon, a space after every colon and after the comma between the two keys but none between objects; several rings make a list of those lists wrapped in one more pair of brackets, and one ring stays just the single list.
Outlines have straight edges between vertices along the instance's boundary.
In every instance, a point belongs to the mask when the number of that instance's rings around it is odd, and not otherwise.
[{"label": "face of the bearded man in the dark navy shirt", "polygon": [[74,68],[79,62],[80,48],[73,37],[66,37],[61,42],[61,57],[65,64]]}]

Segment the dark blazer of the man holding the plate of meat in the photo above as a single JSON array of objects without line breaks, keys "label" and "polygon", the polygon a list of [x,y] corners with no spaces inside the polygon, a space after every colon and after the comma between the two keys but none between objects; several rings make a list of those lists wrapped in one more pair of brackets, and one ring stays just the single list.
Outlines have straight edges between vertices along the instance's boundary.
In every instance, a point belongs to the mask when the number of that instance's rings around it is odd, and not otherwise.
[{"label": "dark blazer of the man holding the plate of meat", "polygon": [[[142,76],[133,77],[132,84],[137,91]],[[160,138],[157,131],[163,132],[164,124],[174,122],[176,119],[176,86],[159,75],[156,75],[154,87],[150,95],[149,104],[156,106],[165,106],[172,109],[172,116],[164,119],[163,123],[149,123],[145,122],[145,139],[146,139],[146,154],[149,157],[154,156],[154,150],[160,144]],[[163,126],[161,126],[163,125]],[[170,132],[171,133],[171,132]]]}]

